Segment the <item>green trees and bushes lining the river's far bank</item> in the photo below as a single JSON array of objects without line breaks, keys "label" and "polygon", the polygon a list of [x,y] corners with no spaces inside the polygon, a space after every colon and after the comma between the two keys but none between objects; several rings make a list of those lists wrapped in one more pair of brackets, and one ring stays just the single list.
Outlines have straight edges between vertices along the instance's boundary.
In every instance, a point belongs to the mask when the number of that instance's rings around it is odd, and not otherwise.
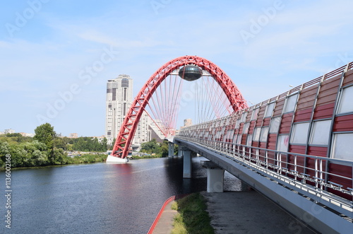
[{"label": "green trees and bushes lining the river's far bank", "polygon": [[[168,155],[166,141],[159,143],[152,139],[141,144],[140,148],[140,156],[132,156],[131,159],[162,158]],[[11,158],[11,168],[100,163],[107,159],[106,152],[109,149],[112,146],[107,144],[106,138],[99,141],[97,138],[83,136],[76,139],[61,137],[56,134],[52,125],[46,123],[35,129],[34,137],[18,133],[0,135],[0,170],[6,168],[6,158]],[[80,156],[68,156],[67,152],[70,151],[84,153]]]}]

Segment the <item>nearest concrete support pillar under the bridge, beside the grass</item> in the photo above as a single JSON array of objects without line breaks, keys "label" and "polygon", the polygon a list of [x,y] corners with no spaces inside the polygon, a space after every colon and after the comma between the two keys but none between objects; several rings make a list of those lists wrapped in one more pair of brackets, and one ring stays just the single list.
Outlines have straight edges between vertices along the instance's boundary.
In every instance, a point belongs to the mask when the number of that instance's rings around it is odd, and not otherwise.
[{"label": "nearest concrete support pillar under the bridge, beside the grass", "polygon": [[223,192],[225,170],[211,161],[201,161],[201,165],[207,169],[207,192]]}]

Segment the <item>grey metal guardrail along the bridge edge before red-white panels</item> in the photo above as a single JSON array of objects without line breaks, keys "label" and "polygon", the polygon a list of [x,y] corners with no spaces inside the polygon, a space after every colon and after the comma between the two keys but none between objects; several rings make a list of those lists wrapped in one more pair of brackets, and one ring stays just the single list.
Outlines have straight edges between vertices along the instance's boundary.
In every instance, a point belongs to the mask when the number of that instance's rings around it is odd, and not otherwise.
[{"label": "grey metal guardrail along the bridge edge before red-white panels", "polygon": [[[353,185],[353,179],[352,177],[345,177],[328,172],[326,171],[325,165],[328,165],[328,163],[345,165],[350,167],[353,171],[353,161],[280,152],[266,148],[244,146],[223,141],[196,139],[186,136],[175,136],[174,138],[192,142],[193,144],[208,148],[210,151],[235,160],[237,163],[246,165],[252,170],[256,170],[256,172],[261,172],[270,177],[271,180],[275,180],[281,185],[294,189],[314,201],[320,199],[324,201],[325,206],[337,211],[337,213],[345,214],[350,218],[350,221],[352,221],[353,201],[349,201],[327,190],[334,189],[342,192],[342,194],[353,196],[352,187],[345,187],[337,183],[337,180],[340,180],[345,181],[345,185]],[[313,161],[311,167],[307,166],[305,163],[308,160]],[[330,178],[335,178],[335,182],[330,181]]]}]

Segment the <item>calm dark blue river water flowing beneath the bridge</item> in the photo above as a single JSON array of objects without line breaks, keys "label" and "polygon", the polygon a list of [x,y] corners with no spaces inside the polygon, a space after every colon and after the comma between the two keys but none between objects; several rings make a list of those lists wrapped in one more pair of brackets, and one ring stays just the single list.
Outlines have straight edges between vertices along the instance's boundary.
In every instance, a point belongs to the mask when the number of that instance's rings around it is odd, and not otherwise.
[{"label": "calm dark blue river water flowing beneath the bridge", "polygon": [[[206,190],[200,160],[191,179],[182,178],[181,158],[12,170],[11,229],[1,172],[0,233],[147,233],[167,198]],[[237,187],[226,172],[225,189]]]}]

